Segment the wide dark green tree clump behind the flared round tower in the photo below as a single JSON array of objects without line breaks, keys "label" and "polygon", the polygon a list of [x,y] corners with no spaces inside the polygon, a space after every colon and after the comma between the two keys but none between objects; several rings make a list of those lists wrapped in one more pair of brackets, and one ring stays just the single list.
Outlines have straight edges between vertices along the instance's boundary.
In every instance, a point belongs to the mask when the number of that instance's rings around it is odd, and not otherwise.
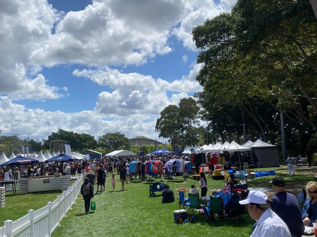
[{"label": "wide dark green tree clump behind the flared round tower", "polygon": [[97,141],[95,138],[87,133],[77,133],[73,131],[65,131],[58,129],[57,132],[52,132],[48,140],[43,139],[43,147],[49,149],[49,141],[63,140],[68,141],[72,150],[82,151],[85,149],[97,148]]}]

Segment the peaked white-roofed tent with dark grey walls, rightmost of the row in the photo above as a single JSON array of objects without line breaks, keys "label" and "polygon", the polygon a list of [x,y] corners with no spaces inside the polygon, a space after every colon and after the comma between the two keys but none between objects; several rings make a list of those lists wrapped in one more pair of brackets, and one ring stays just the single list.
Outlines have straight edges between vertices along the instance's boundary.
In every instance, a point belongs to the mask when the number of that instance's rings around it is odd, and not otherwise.
[{"label": "peaked white-roofed tent with dark grey walls, rightmost of the row", "polygon": [[262,167],[272,167],[279,165],[277,146],[262,142],[257,139],[250,144],[251,151],[256,154]]}]

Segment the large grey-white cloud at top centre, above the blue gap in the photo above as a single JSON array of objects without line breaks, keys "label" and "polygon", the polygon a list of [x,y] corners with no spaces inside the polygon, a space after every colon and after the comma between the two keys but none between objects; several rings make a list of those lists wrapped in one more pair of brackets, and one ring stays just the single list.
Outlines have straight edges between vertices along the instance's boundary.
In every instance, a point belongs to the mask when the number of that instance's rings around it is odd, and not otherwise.
[{"label": "large grey-white cloud at top centre, above the blue gap", "polygon": [[93,1],[68,12],[41,47],[31,54],[38,64],[143,64],[171,52],[167,40],[183,12],[174,1]]}]

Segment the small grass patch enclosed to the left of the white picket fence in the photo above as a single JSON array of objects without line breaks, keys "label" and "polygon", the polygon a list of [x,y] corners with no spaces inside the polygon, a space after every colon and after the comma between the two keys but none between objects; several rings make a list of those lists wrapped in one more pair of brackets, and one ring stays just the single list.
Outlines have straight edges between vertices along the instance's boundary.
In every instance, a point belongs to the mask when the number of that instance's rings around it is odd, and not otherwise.
[{"label": "small grass patch enclosed to the left of the white picket fence", "polygon": [[[10,192],[9,192],[10,193]],[[28,210],[37,210],[47,204],[53,202],[57,195],[61,195],[62,191],[46,191],[29,194],[6,195],[5,207],[0,208],[0,226],[6,220],[15,221],[20,217],[28,214]]]}]

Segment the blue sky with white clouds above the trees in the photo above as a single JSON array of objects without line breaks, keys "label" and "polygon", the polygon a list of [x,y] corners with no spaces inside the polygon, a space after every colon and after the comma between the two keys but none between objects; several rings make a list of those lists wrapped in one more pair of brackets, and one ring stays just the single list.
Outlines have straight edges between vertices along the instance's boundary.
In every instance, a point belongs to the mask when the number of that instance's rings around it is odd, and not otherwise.
[{"label": "blue sky with white clouds above the trees", "polygon": [[0,130],[159,141],[156,119],[193,96],[191,30],[235,0],[0,1]]}]

